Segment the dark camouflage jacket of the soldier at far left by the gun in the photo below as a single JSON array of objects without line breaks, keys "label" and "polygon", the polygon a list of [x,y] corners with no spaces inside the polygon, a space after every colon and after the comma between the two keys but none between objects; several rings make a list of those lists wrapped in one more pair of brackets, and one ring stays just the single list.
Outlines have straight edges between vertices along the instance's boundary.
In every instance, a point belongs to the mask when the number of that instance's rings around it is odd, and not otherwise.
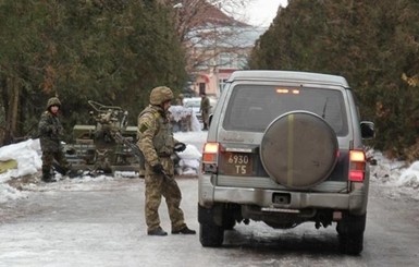
[{"label": "dark camouflage jacket of the soldier at far left by the gun", "polygon": [[57,116],[45,111],[39,120],[38,132],[42,151],[58,151],[61,149],[60,138],[63,136],[63,128]]}]

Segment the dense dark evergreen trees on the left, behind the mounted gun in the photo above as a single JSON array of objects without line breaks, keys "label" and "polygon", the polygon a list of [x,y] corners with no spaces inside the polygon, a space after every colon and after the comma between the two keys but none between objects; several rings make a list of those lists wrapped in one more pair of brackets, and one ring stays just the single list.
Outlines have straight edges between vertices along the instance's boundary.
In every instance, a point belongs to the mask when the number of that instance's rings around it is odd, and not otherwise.
[{"label": "dense dark evergreen trees on the left, behind the mounted gun", "polygon": [[51,96],[63,102],[67,133],[88,120],[89,99],[122,106],[135,124],[152,87],[186,83],[173,19],[153,0],[1,1],[7,142],[36,130]]}]

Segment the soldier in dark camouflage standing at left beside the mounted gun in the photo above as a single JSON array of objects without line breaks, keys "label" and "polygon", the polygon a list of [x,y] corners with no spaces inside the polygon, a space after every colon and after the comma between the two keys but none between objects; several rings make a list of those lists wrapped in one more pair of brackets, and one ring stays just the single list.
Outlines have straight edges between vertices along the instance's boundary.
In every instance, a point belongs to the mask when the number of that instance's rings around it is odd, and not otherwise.
[{"label": "soldier in dark camouflage standing at left beside the mounted gun", "polygon": [[48,100],[47,110],[42,112],[38,124],[40,148],[42,150],[42,181],[54,182],[51,175],[53,160],[58,162],[57,170],[61,174],[69,172],[70,165],[62,151],[60,138],[63,136],[63,128],[58,118],[61,102],[57,97]]}]

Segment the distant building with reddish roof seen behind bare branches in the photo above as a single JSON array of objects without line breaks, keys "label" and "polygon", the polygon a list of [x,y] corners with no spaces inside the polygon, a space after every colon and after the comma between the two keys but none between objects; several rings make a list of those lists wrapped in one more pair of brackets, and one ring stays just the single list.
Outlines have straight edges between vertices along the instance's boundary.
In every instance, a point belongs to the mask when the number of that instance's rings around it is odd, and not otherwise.
[{"label": "distant building with reddish roof seen behind bare branches", "polygon": [[205,92],[218,97],[230,74],[246,69],[255,41],[266,29],[238,22],[204,0],[184,0],[176,8],[190,74],[188,89],[196,96]]}]

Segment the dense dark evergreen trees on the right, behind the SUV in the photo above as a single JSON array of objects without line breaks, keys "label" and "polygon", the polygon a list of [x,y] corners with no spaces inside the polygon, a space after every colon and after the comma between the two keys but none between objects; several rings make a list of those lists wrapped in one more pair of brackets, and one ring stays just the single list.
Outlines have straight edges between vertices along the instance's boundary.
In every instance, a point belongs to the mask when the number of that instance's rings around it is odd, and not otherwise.
[{"label": "dense dark evergreen trees on the right, behind the SUV", "polygon": [[419,156],[419,4],[414,0],[291,0],[260,37],[251,69],[345,76],[375,148]]}]

